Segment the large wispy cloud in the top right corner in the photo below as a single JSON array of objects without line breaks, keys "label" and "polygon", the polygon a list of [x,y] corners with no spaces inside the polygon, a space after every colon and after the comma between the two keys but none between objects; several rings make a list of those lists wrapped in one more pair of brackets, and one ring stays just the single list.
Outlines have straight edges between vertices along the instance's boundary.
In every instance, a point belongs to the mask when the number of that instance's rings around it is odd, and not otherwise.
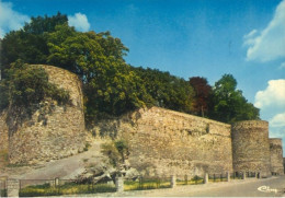
[{"label": "large wispy cloud in the top right corner", "polygon": [[256,35],[256,30],[246,35],[243,45],[249,46],[247,60],[270,61],[285,57],[285,0],[276,8],[266,28]]}]

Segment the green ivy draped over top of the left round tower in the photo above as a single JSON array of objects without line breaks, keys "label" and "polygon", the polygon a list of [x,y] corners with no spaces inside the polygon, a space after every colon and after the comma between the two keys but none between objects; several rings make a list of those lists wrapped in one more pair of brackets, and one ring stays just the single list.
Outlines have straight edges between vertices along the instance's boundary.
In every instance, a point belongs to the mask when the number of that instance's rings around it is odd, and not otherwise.
[{"label": "green ivy draped over top of the left round tower", "polygon": [[1,109],[11,105],[26,109],[26,113],[31,114],[32,107],[47,97],[59,104],[69,102],[69,93],[49,83],[44,69],[16,61],[11,65],[7,74],[8,77],[0,82]]}]

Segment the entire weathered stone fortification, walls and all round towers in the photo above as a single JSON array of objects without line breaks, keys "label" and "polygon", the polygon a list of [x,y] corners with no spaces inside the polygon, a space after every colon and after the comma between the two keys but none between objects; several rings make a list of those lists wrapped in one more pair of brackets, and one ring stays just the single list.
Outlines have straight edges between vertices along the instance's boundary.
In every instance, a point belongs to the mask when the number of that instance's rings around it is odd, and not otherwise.
[{"label": "entire weathered stone fortification, walls and all round towers", "polygon": [[[16,115],[13,107],[0,113],[0,153],[9,153],[9,161],[14,164],[65,158],[86,145],[83,94],[78,77],[52,66],[33,67],[44,68],[49,82],[68,90],[71,103],[60,106],[46,98],[32,118],[21,119],[16,127],[11,116]],[[152,107],[101,121],[92,132],[127,139],[127,165],[142,175],[204,176],[235,171],[269,176],[271,172],[282,172],[282,144],[272,141],[270,148],[267,121],[230,126]],[[0,167],[2,162],[0,155]]]}]

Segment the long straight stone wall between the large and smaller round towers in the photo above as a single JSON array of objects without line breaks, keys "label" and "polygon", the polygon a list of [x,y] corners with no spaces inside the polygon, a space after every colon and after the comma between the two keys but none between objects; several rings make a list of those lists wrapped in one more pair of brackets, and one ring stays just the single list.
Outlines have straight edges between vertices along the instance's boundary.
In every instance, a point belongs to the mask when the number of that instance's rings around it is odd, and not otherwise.
[{"label": "long straight stone wall between the large and smaller round towers", "polygon": [[107,125],[128,140],[129,163],[142,174],[232,172],[230,125],[159,107],[140,109]]}]

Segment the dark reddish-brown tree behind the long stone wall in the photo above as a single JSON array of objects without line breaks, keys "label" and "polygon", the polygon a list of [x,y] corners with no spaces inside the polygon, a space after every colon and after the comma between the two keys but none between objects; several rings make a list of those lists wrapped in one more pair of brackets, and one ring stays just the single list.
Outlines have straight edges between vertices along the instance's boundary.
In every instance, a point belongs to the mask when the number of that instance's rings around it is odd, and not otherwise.
[{"label": "dark reddish-brown tree behind the long stone wall", "polygon": [[195,115],[204,117],[208,114],[208,104],[212,88],[210,85],[208,85],[207,80],[202,77],[192,77],[190,78],[189,82],[195,93],[192,112]]}]

